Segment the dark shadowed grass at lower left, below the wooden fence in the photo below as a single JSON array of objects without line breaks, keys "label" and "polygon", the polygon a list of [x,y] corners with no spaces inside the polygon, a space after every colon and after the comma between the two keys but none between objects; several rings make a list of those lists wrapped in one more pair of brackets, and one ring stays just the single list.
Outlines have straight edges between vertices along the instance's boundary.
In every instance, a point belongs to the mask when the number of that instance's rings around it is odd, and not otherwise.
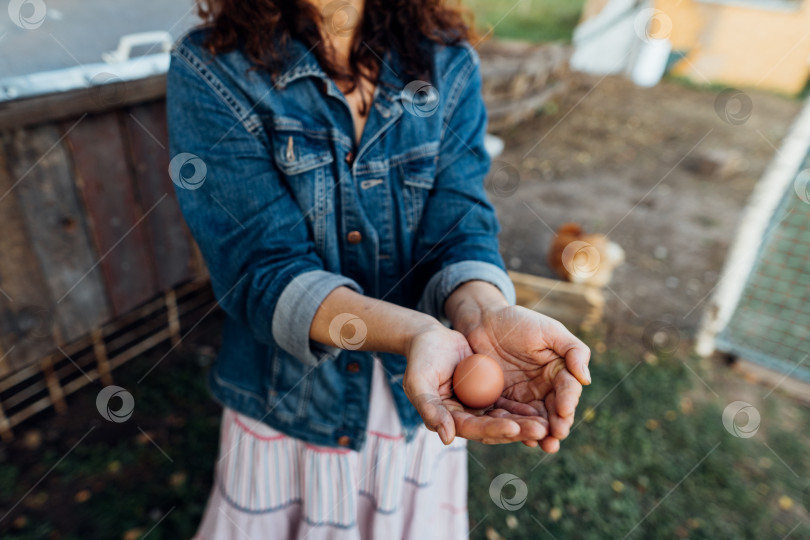
[{"label": "dark shadowed grass at lower left, below the wooden fence", "polygon": [[[161,540],[194,534],[210,489],[221,412],[191,352],[168,357],[138,385],[165,352],[156,349],[115,371],[115,383],[135,398],[126,422],[100,419],[96,383],[70,398],[67,416],[49,413],[18,430],[18,440],[0,452],[0,516],[21,502],[0,522],[0,538],[134,540],[148,534]],[[32,431],[44,439],[35,449],[24,442]]]}]

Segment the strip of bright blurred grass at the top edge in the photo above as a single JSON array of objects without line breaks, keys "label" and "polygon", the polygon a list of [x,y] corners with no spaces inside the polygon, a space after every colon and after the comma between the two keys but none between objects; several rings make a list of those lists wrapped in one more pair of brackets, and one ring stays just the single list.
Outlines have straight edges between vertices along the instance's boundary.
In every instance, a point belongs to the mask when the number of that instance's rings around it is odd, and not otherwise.
[{"label": "strip of bright blurred grass at the top edge", "polygon": [[462,0],[481,33],[526,41],[571,41],[584,0]]}]

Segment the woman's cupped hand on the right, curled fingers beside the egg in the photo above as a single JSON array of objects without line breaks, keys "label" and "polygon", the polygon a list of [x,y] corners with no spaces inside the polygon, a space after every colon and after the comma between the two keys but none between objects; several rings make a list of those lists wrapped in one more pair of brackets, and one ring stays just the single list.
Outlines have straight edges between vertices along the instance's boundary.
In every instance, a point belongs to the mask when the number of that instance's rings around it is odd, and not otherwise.
[{"label": "woman's cupped hand on the right, curled fingers beside the egg", "polygon": [[503,394],[487,414],[546,419],[547,433],[521,440],[558,451],[574,423],[582,386],[591,382],[588,347],[562,323],[520,306],[484,311],[466,339],[474,352],[491,356],[504,372]]}]

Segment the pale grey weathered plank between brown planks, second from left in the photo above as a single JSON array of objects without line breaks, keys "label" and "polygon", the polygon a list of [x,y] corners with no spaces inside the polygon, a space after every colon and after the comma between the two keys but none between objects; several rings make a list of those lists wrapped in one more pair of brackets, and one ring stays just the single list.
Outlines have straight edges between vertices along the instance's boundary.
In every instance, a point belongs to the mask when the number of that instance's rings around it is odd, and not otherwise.
[{"label": "pale grey weathered plank between brown planks, second from left", "polygon": [[110,312],[63,137],[55,126],[44,125],[6,138],[13,190],[55,302],[49,309],[61,330],[59,341],[73,341]]}]

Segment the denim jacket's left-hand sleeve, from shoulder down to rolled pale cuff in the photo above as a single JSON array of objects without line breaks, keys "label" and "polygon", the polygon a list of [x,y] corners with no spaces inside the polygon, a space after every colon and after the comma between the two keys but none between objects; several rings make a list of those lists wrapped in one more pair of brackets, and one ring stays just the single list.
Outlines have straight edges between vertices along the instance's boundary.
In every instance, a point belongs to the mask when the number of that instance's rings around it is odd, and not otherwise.
[{"label": "denim jacket's left-hand sleeve, from shoulder down to rolled pale cuff", "polygon": [[[222,309],[258,341],[314,365],[337,352],[309,339],[318,306],[337,287],[361,288],[324,268],[260,120],[199,62],[176,50],[167,78],[178,202]],[[177,182],[181,173],[195,183]]]}]

